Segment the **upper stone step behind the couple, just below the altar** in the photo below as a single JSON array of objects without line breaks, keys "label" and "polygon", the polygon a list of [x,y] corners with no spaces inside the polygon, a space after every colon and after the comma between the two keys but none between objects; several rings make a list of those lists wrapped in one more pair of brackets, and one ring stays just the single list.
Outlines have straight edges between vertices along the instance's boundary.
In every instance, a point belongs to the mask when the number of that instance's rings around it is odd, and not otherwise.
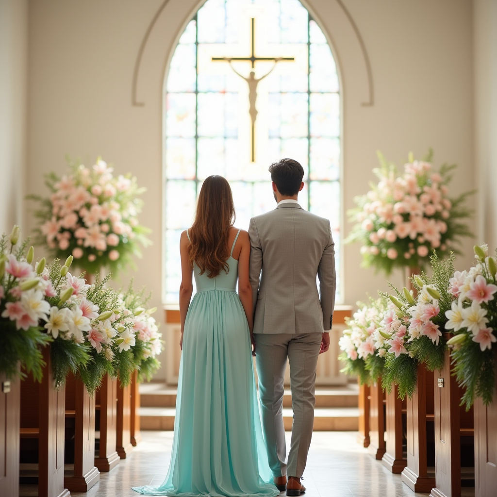
[{"label": "upper stone step behind the couple, just below the altar", "polygon": [[[142,407],[174,408],[177,390],[163,383],[144,383],[140,385]],[[316,408],[354,408],[357,407],[358,388],[352,384],[345,387],[316,388]],[[292,407],[292,394],[285,389],[283,407]]]}]

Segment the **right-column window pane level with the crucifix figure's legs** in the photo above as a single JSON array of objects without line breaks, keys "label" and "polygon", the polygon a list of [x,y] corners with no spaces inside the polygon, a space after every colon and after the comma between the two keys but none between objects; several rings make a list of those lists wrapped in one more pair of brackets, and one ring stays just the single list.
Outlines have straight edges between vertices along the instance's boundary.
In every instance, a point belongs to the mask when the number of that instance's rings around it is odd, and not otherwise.
[{"label": "right-column window pane level with the crucifix figure's legs", "polygon": [[311,93],[311,136],[339,136],[340,98],[336,93]]}]

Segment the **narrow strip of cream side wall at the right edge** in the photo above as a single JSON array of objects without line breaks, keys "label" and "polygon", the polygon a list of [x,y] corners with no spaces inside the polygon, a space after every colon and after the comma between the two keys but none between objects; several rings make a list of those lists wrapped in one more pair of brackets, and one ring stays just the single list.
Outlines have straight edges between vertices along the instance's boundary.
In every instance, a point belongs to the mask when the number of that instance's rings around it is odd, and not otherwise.
[{"label": "narrow strip of cream side wall at the right edge", "polygon": [[497,248],[497,2],[473,3],[479,242]]}]

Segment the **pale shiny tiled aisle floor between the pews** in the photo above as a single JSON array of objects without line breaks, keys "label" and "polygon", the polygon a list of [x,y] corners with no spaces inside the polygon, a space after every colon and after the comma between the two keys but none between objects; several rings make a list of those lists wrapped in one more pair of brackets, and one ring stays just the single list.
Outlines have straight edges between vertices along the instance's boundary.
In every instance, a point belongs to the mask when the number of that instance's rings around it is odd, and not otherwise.
[{"label": "pale shiny tiled aisle floor between the pews", "polygon": [[[160,485],[167,472],[172,442],[170,431],[144,431],[143,441],[129,459],[110,473],[101,473],[100,482],[88,497],[137,497],[132,486]],[[289,436],[289,433],[287,433]],[[289,443],[288,443],[289,446]],[[304,474],[307,497],[404,497],[415,494],[368,455],[356,442],[355,432],[316,432]]]}]

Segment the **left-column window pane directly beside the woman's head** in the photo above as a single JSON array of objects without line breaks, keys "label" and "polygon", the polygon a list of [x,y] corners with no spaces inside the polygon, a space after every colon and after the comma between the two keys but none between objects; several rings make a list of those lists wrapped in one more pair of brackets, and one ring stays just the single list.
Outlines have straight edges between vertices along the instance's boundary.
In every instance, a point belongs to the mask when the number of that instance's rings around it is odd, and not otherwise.
[{"label": "left-column window pane directly beside the woman's head", "polygon": [[168,229],[185,230],[195,214],[195,182],[169,180],[166,186],[166,214]]}]

